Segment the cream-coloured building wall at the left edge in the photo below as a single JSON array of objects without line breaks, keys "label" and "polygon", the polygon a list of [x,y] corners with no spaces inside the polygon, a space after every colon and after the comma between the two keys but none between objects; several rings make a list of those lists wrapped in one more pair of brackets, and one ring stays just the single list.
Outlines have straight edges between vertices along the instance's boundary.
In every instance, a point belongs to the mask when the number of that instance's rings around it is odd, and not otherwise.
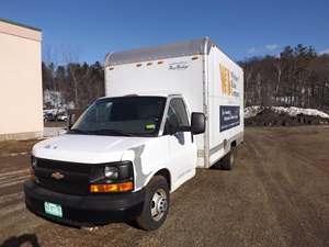
[{"label": "cream-coloured building wall at the left edge", "polygon": [[0,20],[0,139],[43,132],[41,35]]}]

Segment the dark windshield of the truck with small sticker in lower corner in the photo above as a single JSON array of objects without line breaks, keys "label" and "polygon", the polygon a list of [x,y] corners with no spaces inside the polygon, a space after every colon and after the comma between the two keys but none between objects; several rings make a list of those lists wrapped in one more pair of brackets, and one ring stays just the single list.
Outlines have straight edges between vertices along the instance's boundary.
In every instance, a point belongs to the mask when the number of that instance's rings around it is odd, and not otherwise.
[{"label": "dark windshield of the truck with small sticker in lower corner", "polygon": [[69,134],[156,136],[166,98],[120,97],[97,100],[75,123]]}]

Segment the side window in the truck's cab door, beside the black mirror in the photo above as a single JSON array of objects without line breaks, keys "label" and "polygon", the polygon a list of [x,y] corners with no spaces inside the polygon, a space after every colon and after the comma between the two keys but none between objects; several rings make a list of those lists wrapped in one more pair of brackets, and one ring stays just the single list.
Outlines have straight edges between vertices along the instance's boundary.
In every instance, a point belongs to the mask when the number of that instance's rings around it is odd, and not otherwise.
[{"label": "side window in the truck's cab door, beside the black mirror", "polygon": [[183,100],[175,98],[169,104],[163,135],[168,135],[181,126],[189,126],[189,117]]}]

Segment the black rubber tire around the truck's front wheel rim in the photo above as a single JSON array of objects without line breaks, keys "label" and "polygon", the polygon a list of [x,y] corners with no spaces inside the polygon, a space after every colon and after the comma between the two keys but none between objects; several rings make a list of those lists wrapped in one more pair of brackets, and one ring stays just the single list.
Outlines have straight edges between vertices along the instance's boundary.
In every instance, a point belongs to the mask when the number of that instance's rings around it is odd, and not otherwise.
[{"label": "black rubber tire around the truck's front wheel rim", "polygon": [[[152,207],[155,209],[154,197],[157,197],[156,193],[157,194],[160,193],[159,191],[161,192],[161,194],[163,193],[166,194],[167,198],[166,200],[164,199],[163,200],[167,201],[167,205],[161,207],[162,210],[164,210],[166,207],[166,211],[162,212],[161,215],[160,214],[158,215],[160,216],[159,218],[156,218],[151,214],[151,209]],[[163,204],[164,201],[162,201],[161,199],[161,202],[159,203]],[[145,231],[158,229],[167,218],[167,214],[169,212],[169,205],[170,205],[170,198],[169,198],[168,182],[164,177],[155,176],[149,182],[149,184],[146,187],[143,211],[140,215],[136,218],[137,225]]]}]

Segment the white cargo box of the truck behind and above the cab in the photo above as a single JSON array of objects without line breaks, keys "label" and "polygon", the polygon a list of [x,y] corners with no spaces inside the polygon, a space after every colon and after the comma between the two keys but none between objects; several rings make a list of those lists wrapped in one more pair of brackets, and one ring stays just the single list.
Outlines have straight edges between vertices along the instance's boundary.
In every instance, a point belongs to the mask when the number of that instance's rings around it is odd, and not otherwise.
[{"label": "white cargo box of the truck behind and above the cab", "polygon": [[173,92],[190,112],[205,113],[206,132],[196,136],[198,167],[208,168],[242,142],[243,71],[208,38],[110,53],[104,66],[106,97]]}]

